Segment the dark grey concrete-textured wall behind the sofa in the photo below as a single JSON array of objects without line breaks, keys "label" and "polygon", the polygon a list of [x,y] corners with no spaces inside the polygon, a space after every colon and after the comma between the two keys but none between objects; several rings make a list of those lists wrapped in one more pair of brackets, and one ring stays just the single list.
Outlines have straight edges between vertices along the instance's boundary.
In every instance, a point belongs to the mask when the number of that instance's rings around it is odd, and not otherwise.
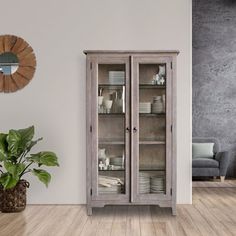
[{"label": "dark grey concrete-textured wall behind the sofa", "polygon": [[236,1],[193,0],[193,137],[231,150],[236,177]]}]

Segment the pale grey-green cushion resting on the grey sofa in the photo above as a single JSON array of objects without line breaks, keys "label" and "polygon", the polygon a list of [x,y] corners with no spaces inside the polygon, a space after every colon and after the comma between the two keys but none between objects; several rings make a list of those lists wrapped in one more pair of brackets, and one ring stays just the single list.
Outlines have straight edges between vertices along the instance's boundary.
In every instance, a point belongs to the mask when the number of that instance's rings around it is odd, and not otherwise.
[{"label": "pale grey-green cushion resting on the grey sofa", "polygon": [[214,143],[193,143],[192,151],[193,151],[193,159],[194,158],[213,158]]}]

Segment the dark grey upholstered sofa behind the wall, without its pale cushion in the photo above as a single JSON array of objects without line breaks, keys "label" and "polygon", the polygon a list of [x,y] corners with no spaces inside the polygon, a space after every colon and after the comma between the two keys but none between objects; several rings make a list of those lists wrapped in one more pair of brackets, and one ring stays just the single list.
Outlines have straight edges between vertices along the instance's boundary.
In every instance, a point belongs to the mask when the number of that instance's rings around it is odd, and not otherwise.
[{"label": "dark grey upholstered sofa behind the wall, without its pale cushion", "polygon": [[214,143],[212,158],[194,158],[192,160],[192,176],[219,177],[223,182],[229,165],[229,152],[220,151],[219,141],[215,138],[193,138],[193,143]]}]

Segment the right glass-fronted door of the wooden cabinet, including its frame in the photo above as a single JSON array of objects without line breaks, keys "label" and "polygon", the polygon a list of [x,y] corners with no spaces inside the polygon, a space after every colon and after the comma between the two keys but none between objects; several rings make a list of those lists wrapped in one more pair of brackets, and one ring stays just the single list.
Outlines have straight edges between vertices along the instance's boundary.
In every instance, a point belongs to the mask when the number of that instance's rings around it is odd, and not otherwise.
[{"label": "right glass-fronted door of the wooden cabinet, including its frame", "polygon": [[170,197],[171,64],[134,57],[132,78],[132,200]]}]

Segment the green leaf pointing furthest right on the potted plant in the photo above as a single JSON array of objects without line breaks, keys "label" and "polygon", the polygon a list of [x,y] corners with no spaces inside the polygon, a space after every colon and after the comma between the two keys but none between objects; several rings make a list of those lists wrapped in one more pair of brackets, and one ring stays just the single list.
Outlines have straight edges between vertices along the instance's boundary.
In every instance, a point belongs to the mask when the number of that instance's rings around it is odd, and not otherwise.
[{"label": "green leaf pointing furthest right on the potted plant", "polygon": [[38,163],[39,166],[59,166],[57,156],[54,152],[39,152],[36,154],[31,154],[27,160]]}]

